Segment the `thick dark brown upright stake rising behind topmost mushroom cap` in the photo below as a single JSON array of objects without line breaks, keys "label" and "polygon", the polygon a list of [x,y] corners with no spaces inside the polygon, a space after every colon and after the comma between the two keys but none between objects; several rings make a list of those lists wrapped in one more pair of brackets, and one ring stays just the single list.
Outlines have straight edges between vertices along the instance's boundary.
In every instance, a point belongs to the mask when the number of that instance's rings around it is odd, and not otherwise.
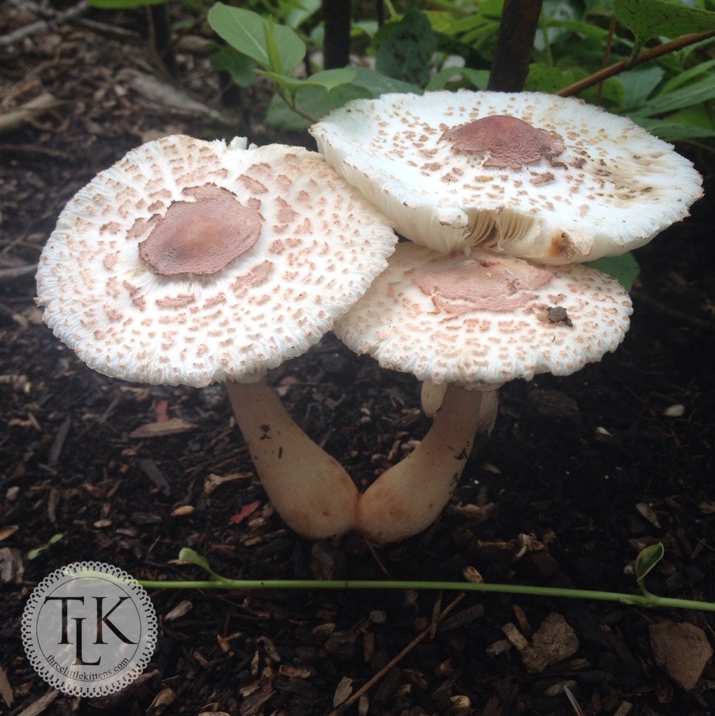
[{"label": "thick dark brown upright stake rising behind topmost mushroom cap", "polygon": [[504,0],[486,89],[521,92],[529,74],[542,0]]}]

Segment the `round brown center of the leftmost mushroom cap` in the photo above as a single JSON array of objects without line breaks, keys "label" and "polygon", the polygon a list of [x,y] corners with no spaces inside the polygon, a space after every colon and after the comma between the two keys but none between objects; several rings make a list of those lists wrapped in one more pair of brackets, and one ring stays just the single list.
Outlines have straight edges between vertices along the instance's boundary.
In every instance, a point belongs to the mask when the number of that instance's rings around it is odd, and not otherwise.
[{"label": "round brown center of the leftmost mushroom cap", "polygon": [[184,190],[194,201],[173,201],[139,244],[157,274],[216,274],[258,241],[263,219],[215,184]]}]

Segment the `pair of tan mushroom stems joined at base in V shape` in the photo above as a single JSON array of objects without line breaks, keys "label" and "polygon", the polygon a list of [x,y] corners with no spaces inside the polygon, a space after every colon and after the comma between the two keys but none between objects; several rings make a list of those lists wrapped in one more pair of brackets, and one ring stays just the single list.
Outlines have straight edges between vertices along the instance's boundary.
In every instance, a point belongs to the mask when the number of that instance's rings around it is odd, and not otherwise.
[{"label": "pair of tan mushroom stems joined at base in V shape", "polygon": [[265,377],[226,388],[274,508],[309,539],[352,530],[384,543],[422,531],[454,491],[475,433],[489,425],[480,415],[481,392],[448,386],[418,447],[360,495],[350,475],[292,420]]}]

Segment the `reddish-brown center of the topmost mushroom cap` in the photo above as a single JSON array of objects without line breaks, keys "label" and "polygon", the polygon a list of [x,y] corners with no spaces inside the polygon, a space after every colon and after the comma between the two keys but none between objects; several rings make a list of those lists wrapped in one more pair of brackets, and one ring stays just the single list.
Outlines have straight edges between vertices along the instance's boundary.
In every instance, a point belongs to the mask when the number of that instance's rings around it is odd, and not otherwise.
[{"label": "reddish-brown center of the topmost mushroom cap", "polygon": [[488,154],[484,166],[500,169],[518,169],[542,157],[550,160],[566,148],[558,135],[508,115],[481,117],[453,127],[443,133],[440,140],[443,139],[451,140],[452,147],[460,152]]}]

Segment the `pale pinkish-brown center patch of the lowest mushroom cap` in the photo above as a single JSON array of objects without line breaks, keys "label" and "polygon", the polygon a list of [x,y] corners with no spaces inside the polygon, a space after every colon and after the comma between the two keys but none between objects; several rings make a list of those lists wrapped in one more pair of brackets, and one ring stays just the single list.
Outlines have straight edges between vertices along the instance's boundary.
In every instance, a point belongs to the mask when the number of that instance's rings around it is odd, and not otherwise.
[{"label": "pale pinkish-brown center patch of the lowest mushroom cap", "polygon": [[486,251],[474,256],[453,254],[426,261],[406,271],[438,311],[516,311],[536,298],[534,291],[554,275],[514,256]]}]

